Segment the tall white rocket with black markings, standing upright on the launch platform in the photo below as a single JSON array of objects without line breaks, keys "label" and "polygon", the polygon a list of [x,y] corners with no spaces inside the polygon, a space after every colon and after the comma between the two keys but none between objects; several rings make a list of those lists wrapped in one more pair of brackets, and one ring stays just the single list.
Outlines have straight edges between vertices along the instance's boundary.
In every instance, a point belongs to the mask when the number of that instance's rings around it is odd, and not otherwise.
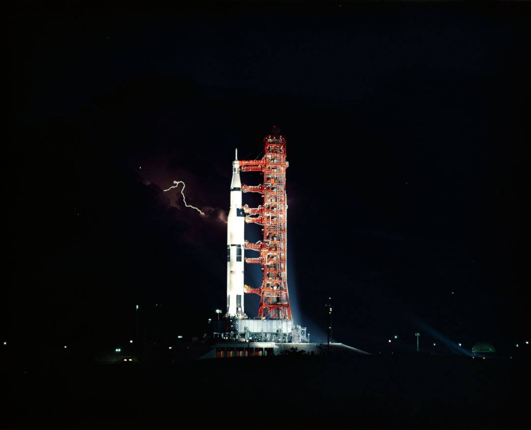
[{"label": "tall white rocket with black markings, standing upright on the launch platform", "polygon": [[227,316],[246,318],[243,307],[244,227],[242,182],[239,179],[238,153],[230,182],[230,209],[227,219]]}]

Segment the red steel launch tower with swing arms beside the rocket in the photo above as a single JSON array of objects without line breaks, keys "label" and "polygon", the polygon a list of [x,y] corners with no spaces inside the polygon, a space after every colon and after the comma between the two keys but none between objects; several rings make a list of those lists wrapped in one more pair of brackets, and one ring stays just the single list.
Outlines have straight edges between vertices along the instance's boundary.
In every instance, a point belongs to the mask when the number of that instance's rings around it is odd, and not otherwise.
[{"label": "red steel launch tower with swing arms beside the rocket", "polygon": [[259,257],[246,258],[247,263],[262,265],[263,281],[260,288],[245,286],[245,293],[260,296],[258,316],[262,319],[292,319],[289,307],[288,283],[286,272],[286,139],[276,134],[264,137],[264,156],[261,160],[242,160],[242,171],[261,171],[263,184],[242,185],[244,193],[260,193],[263,204],[258,208],[244,205],[245,222],[254,222],[262,226],[263,240],[257,243],[245,241],[248,250],[257,251]]}]

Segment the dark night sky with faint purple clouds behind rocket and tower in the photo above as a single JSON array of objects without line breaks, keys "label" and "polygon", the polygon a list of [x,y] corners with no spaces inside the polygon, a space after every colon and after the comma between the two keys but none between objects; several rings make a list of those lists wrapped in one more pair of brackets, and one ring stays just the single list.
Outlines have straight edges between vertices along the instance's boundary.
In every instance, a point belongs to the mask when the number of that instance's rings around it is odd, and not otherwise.
[{"label": "dark night sky with faint purple clouds behind rocket and tower", "polygon": [[8,15],[3,339],[107,348],[136,304],[144,338],[200,336],[234,149],[272,125],[312,340],[329,295],[333,338],[372,352],[530,337],[528,3],[53,4]]}]

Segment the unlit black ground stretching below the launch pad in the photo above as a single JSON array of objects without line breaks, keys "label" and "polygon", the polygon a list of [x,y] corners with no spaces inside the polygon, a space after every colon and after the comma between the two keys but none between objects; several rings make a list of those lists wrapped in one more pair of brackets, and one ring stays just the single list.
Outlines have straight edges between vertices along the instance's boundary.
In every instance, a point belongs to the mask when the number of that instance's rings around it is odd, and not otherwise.
[{"label": "unlit black ground stretching below the launch pad", "polygon": [[3,369],[13,380],[13,428],[191,420],[197,427],[510,429],[527,420],[524,360],[303,356]]}]

